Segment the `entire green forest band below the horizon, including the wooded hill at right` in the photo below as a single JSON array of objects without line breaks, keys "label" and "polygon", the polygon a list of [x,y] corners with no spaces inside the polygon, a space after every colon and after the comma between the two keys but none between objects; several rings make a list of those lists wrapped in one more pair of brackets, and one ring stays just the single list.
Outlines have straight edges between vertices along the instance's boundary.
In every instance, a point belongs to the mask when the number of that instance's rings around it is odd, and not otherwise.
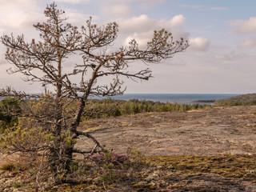
[{"label": "entire green forest band below the horizon, including the wooded hill at right", "polygon": [[[42,101],[27,100],[30,105],[41,106]],[[46,104],[46,103],[45,103]],[[256,105],[256,94],[244,94],[231,98],[225,98],[214,102],[213,106],[252,106]],[[70,106],[74,107],[74,106]],[[153,102],[146,100],[130,99],[129,101],[114,100],[112,98],[90,99],[85,106],[86,116],[83,121],[91,118],[116,117],[121,115],[148,113],[148,112],[173,112],[197,110],[212,107],[209,104],[178,104],[176,102]],[[17,115],[6,114],[8,110],[17,111]],[[14,98],[5,98],[0,101],[0,126],[5,129],[7,126],[14,126],[18,122],[18,113],[22,110],[20,101]],[[5,111],[5,113],[3,113]]]}]

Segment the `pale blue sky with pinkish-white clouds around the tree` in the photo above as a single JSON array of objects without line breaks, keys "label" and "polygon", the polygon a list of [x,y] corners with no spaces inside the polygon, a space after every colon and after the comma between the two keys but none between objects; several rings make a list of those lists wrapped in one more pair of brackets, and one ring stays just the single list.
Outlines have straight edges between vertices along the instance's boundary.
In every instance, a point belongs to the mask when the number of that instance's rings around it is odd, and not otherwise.
[{"label": "pale blue sky with pinkish-white clouds around the tree", "polygon": [[[248,94],[256,92],[255,0],[55,0],[65,10],[67,22],[82,26],[93,22],[118,22],[114,47],[135,38],[140,46],[154,30],[172,32],[190,46],[150,67],[154,78],[146,82],[126,80],[126,93],[143,94]],[[50,0],[0,0],[0,35],[24,34],[37,38],[33,24],[45,22],[43,11]],[[21,74],[7,74],[6,47],[0,45],[0,88],[40,92],[36,83],[22,81]],[[135,63],[136,64],[136,63]],[[68,67],[68,66],[67,66]]]}]

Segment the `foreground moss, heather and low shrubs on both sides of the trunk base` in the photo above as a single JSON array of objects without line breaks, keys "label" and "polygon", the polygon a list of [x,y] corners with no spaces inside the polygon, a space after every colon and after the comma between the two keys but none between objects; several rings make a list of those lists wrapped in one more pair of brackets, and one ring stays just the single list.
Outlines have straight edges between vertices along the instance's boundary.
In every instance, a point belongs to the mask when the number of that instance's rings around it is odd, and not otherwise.
[{"label": "foreground moss, heather and low shrubs on both sides of the trunk base", "polygon": [[[73,162],[66,182],[57,186],[50,186],[50,177],[43,175],[42,191],[249,191],[256,182],[255,155],[145,157],[129,149],[127,154],[104,150],[93,158],[86,159],[86,166]],[[6,186],[0,184],[0,190],[34,191],[33,171],[3,166],[0,181]],[[7,175],[8,183],[3,180]]]}]

